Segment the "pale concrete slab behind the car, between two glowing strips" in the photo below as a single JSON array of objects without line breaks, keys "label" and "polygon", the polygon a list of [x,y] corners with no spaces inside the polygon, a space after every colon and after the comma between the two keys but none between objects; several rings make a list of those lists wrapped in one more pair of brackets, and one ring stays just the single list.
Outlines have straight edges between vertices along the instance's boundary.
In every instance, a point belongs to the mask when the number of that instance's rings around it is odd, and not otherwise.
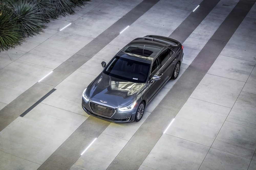
[{"label": "pale concrete slab behind the car, between two glowing strips", "polygon": [[[173,3],[175,2],[173,1]],[[151,25],[168,30],[175,30],[182,23],[182,21],[189,16],[190,13],[191,11],[172,8],[171,6],[167,5],[155,5],[143,16],[137,19],[135,23]]]}]

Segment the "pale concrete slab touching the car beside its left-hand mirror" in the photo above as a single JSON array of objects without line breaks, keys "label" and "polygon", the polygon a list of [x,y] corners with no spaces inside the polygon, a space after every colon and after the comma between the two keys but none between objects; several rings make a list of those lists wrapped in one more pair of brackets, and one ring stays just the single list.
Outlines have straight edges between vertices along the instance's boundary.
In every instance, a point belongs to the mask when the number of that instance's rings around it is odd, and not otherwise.
[{"label": "pale concrete slab touching the car beside its left-hand mirror", "polygon": [[90,60],[78,68],[77,71],[98,76],[103,71],[101,62],[105,61],[108,63],[122,48],[122,46],[116,46],[112,44],[106,45]]}]

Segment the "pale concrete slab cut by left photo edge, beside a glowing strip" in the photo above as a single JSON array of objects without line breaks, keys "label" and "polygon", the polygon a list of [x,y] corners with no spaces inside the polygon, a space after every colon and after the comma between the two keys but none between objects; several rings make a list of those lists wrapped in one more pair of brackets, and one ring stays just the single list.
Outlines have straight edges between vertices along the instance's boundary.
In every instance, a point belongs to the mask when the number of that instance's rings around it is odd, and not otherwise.
[{"label": "pale concrete slab cut by left photo edge, beside a glowing strip", "polygon": [[15,60],[0,70],[0,102],[9,104],[52,69]]}]

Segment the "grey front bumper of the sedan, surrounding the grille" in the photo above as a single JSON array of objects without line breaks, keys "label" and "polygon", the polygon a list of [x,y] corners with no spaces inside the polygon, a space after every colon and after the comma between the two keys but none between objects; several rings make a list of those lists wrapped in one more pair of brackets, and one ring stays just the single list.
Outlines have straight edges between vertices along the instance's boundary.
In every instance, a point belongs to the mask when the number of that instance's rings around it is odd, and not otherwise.
[{"label": "grey front bumper of the sedan, surrounding the grille", "polygon": [[[92,102],[95,102],[95,101],[92,101]],[[109,106],[109,107],[113,107],[113,106]],[[115,113],[111,117],[104,117],[102,115],[93,113],[93,111],[91,110],[91,107],[90,107],[90,101],[86,101],[83,97],[82,97],[82,108],[89,115],[98,117],[98,118],[106,120],[106,121],[114,122],[114,123],[133,122],[135,119],[135,113],[137,110],[136,106],[132,110],[126,111],[126,112],[120,111],[118,108],[115,108]]]}]

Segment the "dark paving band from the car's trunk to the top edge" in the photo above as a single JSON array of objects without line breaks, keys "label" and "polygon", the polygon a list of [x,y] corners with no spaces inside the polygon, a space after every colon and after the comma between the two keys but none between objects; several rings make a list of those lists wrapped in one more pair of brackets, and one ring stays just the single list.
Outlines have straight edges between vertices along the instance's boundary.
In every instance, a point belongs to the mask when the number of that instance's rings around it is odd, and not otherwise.
[{"label": "dark paving band from the car's trunk to the top edge", "polygon": [[197,28],[197,26],[205,19],[205,17],[210,13],[210,11],[219,3],[220,0],[214,1],[202,1],[199,7],[192,12],[173,33],[169,36],[180,43],[189,37],[189,35]]}]

